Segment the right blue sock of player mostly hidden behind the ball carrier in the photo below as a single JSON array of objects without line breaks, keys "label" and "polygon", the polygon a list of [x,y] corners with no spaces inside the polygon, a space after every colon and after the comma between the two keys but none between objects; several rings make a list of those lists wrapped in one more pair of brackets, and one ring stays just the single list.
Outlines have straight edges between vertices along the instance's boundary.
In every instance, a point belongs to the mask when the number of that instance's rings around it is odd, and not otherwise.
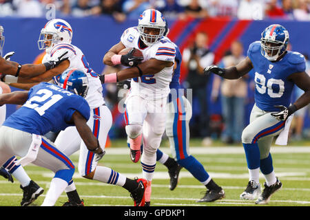
[{"label": "right blue sock of player mostly hidden behind the ball carrier", "polygon": [[206,181],[209,178],[209,174],[203,167],[203,164],[200,164],[200,162],[198,162],[198,160],[192,155],[185,159],[179,159],[178,164],[187,169],[189,173],[192,173],[192,175],[200,182]]}]

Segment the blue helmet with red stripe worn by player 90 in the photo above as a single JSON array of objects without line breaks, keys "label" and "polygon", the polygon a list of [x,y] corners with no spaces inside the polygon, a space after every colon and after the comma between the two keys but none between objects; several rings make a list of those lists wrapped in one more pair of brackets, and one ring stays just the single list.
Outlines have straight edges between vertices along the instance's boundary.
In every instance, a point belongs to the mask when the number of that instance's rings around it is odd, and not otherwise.
[{"label": "blue helmet with red stripe worn by player 90", "polygon": [[260,42],[262,56],[269,61],[276,61],[287,50],[289,32],[282,25],[270,25],[262,32]]}]

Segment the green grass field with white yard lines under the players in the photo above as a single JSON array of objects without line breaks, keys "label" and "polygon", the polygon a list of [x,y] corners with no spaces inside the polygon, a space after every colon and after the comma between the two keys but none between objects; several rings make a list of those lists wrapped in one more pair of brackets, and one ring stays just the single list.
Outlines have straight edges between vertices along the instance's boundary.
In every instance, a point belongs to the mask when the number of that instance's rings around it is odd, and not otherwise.
[{"label": "green grass field with white yard lines under the players", "polygon": [[[169,153],[167,140],[163,140],[161,149]],[[178,186],[171,191],[168,188],[169,175],[162,164],[156,165],[152,181],[152,206],[257,206],[254,201],[242,201],[240,193],[247,186],[248,171],[245,154],[241,145],[223,146],[215,142],[214,146],[199,146],[200,140],[192,140],[191,153],[198,159],[214,181],[225,190],[226,197],[213,203],[196,203],[203,197],[205,187],[183,168],[180,171]],[[127,177],[141,177],[140,163],[130,160],[125,140],[112,141],[106,148],[101,160],[102,166],[108,166]],[[265,206],[310,206],[310,144],[307,142],[290,143],[289,146],[272,146],[273,166],[283,187],[276,192]],[[70,157],[77,167],[78,155]],[[33,165],[25,166],[28,175],[45,189],[33,206],[40,206],[48,191],[53,173],[45,168]],[[74,174],[76,188],[84,199],[85,206],[133,206],[129,192],[119,186],[103,184],[99,181],[83,179],[76,170]],[[260,177],[260,184],[265,179]],[[22,191],[19,182],[14,184],[0,178],[0,206],[19,206]],[[56,202],[61,206],[67,201],[65,192]]]}]

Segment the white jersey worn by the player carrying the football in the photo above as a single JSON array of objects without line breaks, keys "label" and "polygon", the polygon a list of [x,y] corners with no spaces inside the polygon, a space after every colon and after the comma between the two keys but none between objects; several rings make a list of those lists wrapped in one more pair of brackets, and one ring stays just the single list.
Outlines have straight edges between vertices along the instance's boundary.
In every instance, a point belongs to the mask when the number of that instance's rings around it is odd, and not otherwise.
[{"label": "white jersey worn by the player carrying the football", "polygon": [[[121,36],[121,42],[125,47],[135,47],[143,53],[144,60],[156,59],[174,63],[176,50],[174,44],[165,36],[150,47],[143,47],[140,34],[136,27],[128,28]],[[129,95],[139,95],[145,99],[166,98],[170,92],[169,83],[172,80],[173,67],[165,67],[154,75],[143,75],[133,78]]]}]

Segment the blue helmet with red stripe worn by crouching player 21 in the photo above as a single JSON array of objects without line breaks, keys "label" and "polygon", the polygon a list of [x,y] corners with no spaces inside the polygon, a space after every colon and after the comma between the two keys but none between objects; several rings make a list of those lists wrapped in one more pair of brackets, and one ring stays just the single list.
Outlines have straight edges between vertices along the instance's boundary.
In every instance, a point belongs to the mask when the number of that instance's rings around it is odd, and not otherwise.
[{"label": "blue helmet with red stripe worn by crouching player 21", "polygon": [[67,69],[61,74],[58,86],[85,98],[88,91],[88,78],[79,69]]}]

